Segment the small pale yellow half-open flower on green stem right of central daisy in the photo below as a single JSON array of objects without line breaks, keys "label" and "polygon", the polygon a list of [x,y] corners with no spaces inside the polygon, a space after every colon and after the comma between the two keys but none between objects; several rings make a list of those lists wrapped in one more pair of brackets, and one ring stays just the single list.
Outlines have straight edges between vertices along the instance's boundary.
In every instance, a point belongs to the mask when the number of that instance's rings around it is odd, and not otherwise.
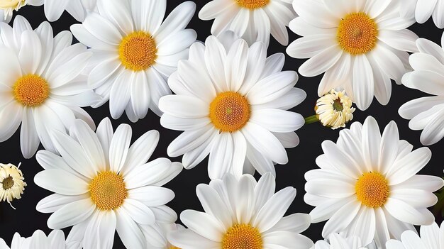
[{"label": "small pale yellow half-open flower on green stem right of central daisy", "polygon": [[323,126],[331,127],[333,130],[345,127],[345,123],[353,119],[355,108],[352,104],[352,100],[344,91],[336,92],[332,89],[316,101],[316,116]]}]

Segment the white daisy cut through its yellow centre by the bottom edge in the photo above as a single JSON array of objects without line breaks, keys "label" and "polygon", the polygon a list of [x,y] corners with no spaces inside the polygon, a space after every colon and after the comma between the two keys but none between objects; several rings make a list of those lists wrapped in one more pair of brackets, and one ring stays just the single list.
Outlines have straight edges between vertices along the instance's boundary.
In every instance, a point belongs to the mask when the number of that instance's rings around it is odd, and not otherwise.
[{"label": "white daisy cut through its yellow centre by the bottom edge", "polygon": [[267,173],[258,182],[251,175],[235,179],[226,175],[196,187],[205,212],[185,210],[186,230],[170,233],[172,245],[182,249],[248,248],[309,249],[313,242],[299,233],[310,226],[308,214],[284,216],[296,197],[286,187],[274,193],[274,177]]}]

